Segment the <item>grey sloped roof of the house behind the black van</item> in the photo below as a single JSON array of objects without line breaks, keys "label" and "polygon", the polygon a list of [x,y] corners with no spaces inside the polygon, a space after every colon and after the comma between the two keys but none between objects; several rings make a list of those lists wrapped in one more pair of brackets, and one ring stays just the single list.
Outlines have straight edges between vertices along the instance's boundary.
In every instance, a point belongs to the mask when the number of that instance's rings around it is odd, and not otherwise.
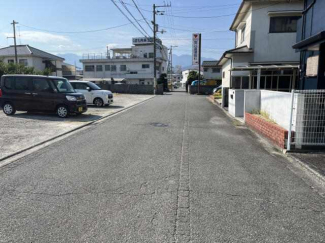
[{"label": "grey sloped roof of the house behind the black van", "polygon": [[[65,59],[51,53],[39,50],[35,47],[29,45],[17,45],[17,55],[18,56],[36,56],[45,59],[49,59],[51,61],[64,61]],[[0,49],[0,56],[15,56],[15,47],[8,46]]]}]

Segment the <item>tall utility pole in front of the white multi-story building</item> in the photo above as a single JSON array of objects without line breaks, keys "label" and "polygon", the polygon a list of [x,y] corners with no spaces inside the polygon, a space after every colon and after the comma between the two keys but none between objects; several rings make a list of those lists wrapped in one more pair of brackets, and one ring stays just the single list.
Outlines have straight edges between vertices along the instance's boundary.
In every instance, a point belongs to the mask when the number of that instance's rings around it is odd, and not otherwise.
[{"label": "tall utility pole in front of the white multi-story building", "polygon": [[[152,10],[153,10],[153,73],[154,73],[154,78],[153,78],[153,92],[156,94],[156,89],[157,89],[157,32],[159,32],[158,25],[156,24],[156,15],[164,15],[164,11],[157,11],[157,8],[167,8],[170,7],[171,5],[165,4],[162,6],[157,6],[156,4],[153,5]],[[161,33],[163,34],[165,31],[162,30]]]}]

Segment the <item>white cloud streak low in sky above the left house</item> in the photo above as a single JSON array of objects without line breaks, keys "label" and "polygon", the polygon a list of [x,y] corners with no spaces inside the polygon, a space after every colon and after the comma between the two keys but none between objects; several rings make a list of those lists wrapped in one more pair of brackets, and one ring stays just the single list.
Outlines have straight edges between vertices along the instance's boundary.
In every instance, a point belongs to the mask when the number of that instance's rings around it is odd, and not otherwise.
[{"label": "white cloud streak low in sky above the left house", "polygon": [[[12,36],[12,33],[4,33],[6,37]],[[72,41],[63,36],[63,35],[57,35],[57,34],[51,34],[46,32],[40,32],[40,31],[21,31],[19,36],[19,39],[22,41],[28,41],[28,42],[35,42],[35,43],[43,43],[43,44],[67,44],[71,43]]]}]

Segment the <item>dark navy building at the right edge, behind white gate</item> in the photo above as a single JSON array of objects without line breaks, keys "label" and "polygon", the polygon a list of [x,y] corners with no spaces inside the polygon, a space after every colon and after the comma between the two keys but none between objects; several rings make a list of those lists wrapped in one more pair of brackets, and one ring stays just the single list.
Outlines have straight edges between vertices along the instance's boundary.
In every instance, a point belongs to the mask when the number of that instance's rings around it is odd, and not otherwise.
[{"label": "dark navy building at the right edge, behind white gate", "polygon": [[300,80],[297,89],[325,89],[325,1],[305,0],[298,22]]}]

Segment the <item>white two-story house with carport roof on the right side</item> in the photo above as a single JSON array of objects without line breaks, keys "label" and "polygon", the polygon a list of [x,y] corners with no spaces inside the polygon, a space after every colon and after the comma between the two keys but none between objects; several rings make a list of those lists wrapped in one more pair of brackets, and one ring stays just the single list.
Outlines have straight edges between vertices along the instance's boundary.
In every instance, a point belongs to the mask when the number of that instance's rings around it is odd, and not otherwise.
[{"label": "white two-story house with carport roof on the right side", "polygon": [[295,86],[299,53],[297,21],[302,0],[243,0],[230,27],[235,48],[224,52],[222,85],[232,89],[289,91]]}]

